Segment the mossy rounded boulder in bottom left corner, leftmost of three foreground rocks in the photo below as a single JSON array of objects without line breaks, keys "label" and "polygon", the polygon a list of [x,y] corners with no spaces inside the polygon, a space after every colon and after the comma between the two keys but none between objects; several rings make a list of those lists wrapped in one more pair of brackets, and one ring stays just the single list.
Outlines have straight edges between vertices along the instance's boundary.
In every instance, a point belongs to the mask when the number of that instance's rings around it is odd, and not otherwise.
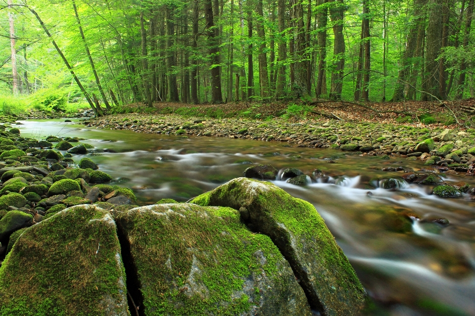
[{"label": "mossy rounded boulder in bottom left corner, leftmost of three foreground rocks", "polygon": [[120,251],[105,210],[57,213],[21,234],[3,261],[0,314],[130,315]]}]

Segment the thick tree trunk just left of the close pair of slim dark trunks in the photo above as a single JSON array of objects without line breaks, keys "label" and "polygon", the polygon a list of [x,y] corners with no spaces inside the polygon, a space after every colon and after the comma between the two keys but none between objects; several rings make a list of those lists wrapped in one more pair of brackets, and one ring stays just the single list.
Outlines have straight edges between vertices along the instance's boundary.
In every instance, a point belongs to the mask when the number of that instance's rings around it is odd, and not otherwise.
[{"label": "thick tree trunk just left of the close pair of slim dark trunks", "polygon": [[333,22],[333,71],[332,71],[332,90],[330,99],[341,99],[343,89],[343,72],[345,68],[345,39],[343,37],[343,19],[345,13],[345,4],[343,0],[334,0],[330,6],[330,19]]}]

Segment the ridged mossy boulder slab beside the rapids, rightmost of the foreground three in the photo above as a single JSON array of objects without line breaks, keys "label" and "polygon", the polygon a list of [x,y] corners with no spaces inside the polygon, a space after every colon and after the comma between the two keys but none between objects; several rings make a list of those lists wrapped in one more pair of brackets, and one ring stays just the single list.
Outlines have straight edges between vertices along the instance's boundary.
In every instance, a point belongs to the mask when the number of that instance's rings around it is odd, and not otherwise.
[{"label": "ridged mossy boulder slab beside the rapids, rightmost of the foreground three", "polygon": [[356,315],[366,292],[315,207],[272,183],[237,178],[192,203],[239,209],[252,231],[269,236],[289,261],[313,310]]}]

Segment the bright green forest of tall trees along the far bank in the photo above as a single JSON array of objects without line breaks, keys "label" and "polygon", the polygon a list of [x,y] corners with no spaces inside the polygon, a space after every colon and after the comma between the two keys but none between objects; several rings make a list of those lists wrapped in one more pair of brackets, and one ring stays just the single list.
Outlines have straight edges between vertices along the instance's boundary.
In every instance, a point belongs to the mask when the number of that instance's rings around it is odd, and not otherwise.
[{"label": "bright green forest of tall trees along the far bank", "polygon": [[1,94],[38,107],[475,93],[474,0],[2,2]]}]

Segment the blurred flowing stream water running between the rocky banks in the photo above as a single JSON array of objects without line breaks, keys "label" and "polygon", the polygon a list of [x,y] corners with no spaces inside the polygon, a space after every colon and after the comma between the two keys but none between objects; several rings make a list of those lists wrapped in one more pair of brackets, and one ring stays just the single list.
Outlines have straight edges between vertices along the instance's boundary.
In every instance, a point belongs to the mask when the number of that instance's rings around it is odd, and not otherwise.
[{"label": "blurred flowing stream water running between the rocky banks", "polygon": [[[430,186],[403,181],[404,171],[381,171],[403,166],[424,172],[420,163],[278,142],[139,134],[62,120],[22,122],[23,136],[78,136],[115,151],[90,158],[134,188],[141,205],[164,197],[186,201],[209,191],[242,176],[249,166],[243,160],[295,167],[307,175],[320,168],[327,183],[297,187],[280,178],[273,183],[315,205],[375,300],[371,315],[475,315],[475,200],[435,197]],[[439,175],[475,184],[473,177]],[[397,179],[397,190],[381,188],[388,177]],[[432,222],[441,217],[450,225]]]}]

